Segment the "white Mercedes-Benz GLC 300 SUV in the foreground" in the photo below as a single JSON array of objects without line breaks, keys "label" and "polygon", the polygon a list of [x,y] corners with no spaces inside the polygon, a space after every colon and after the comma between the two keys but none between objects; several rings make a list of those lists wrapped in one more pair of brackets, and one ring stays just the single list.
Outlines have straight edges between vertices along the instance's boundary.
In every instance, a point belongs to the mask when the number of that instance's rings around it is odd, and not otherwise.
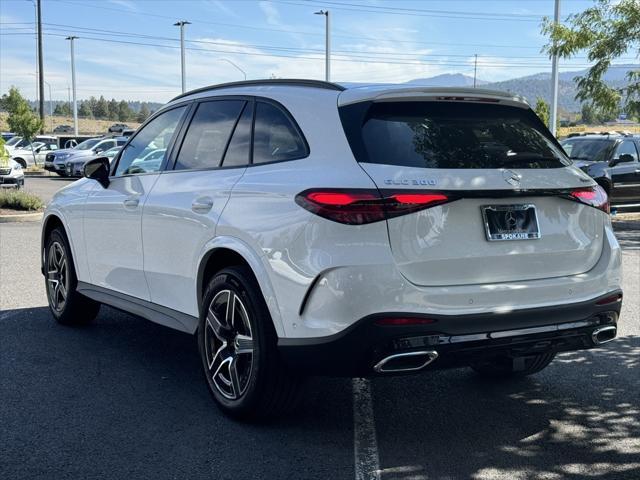
[{"label": "white Mercedes-Benz GLC 300 SUV in the foreground", "polygon": [[43,220],[53,316],[197,335],[237,417],[282,412],[305,375],[521,376],[616,335],[606,193],[510,94],[217,85],[84,176]]}]

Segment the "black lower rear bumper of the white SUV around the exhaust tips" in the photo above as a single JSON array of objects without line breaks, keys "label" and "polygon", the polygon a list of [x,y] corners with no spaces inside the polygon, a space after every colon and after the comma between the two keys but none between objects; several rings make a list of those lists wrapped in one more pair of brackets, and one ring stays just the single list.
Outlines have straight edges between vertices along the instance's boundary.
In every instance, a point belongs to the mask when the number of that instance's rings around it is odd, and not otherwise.
[{"label": "black lower rear bumper of the white SUV around the exhaust tips", "polygon": [[[380,326],[377,320],[398,314],[371,315],[330,337],[283,338],[278,345],[282,358],[293,370],[351,377],[375,375],[374,367],[385,358],[412,352],[437,352],[437,359],[424,368],[428,370],[467,366],[497,356],[581,350],[598,346],[600,342],[594,338],[598,329],[616,327],[622,300],[599,303],[621,293],[509,313],[417,316],[433,321],[428,325]],[[601,340],[615,335],[613,329],[605,332],[608,337]]]}]

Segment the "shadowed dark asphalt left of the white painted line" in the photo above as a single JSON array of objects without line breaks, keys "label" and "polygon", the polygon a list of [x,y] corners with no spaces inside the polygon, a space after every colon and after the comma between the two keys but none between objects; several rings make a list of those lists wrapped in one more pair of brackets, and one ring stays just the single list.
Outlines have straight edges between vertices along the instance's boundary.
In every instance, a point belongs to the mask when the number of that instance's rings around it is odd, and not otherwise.
[{"label": "shadowed dark asphalt left of the white painted line", "polygon": [[64,327],[43,307],[0,313],[0,339],[4,478],[353,478],[346,379],[251,425],[216,407],[190,335],[107,307]]}]

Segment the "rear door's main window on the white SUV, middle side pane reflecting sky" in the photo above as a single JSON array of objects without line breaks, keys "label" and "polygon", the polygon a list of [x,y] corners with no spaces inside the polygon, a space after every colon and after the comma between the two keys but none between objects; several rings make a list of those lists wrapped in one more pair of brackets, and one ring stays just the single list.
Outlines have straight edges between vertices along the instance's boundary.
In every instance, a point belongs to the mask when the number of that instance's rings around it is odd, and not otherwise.
[{"label": "rear door's main window on the white SUV, middle side pane reflecting sky", "polygon": [[244,104],[240,100],[218,100],[198,105],[175,169],[218,167]]}]

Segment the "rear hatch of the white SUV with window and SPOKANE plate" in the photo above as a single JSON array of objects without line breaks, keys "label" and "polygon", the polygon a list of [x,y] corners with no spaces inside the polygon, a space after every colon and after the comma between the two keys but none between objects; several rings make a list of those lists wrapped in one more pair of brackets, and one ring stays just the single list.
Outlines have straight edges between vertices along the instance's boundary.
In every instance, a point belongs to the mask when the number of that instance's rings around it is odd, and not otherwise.
[{"label": "rear hatch of the white SUV with window and SPOKANE plate", "polygon": [[341,105],[340,115],[383,197],[446,199],[387,219],[393,257],[410,282],[535,280],[584,273],[598,261],[606,215],[572,196],[594,182],[524,103],[386,96]]}]

